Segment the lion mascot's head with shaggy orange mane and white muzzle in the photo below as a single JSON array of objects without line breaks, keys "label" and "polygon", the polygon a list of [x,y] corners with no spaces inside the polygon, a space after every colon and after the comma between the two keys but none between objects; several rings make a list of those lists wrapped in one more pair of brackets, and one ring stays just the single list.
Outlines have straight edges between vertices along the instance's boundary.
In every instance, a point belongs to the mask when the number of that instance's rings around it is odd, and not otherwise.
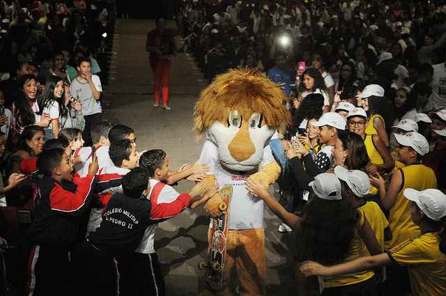
[{"label": "lion mascot's head with shaggy orange mane and white muzzle", "polygon": [[286,95],[259,70],[229,70],[201,91],[194,130],[217,146],[220,162],[234,171],[250,171],[279,127],[291,122]]}]

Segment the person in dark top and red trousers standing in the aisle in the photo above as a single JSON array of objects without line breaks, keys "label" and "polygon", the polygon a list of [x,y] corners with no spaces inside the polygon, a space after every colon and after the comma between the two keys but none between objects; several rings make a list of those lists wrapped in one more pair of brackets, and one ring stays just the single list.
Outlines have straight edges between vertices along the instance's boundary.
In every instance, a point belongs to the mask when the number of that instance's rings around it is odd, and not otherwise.
[{"label": "person in dark top and red trousers standing in the aisle", "polygon": [[155,95],[155,104],[159,106],[160,88],[162,89],[162,107],[166,110],[171,108],[167,106],[167,95],[169,94],[169,74],[171,61],[174,59],[175,45],[174,40],[165,29],[166,21],[162,18],[156,20],[156,29],[147,35],[146,51],[150,52],[150,62],[153,71],[153,93]]}]

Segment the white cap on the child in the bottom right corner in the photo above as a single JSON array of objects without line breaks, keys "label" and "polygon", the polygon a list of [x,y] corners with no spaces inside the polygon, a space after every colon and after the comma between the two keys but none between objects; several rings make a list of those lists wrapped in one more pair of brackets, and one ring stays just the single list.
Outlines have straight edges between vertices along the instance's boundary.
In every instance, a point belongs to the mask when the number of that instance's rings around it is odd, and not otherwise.
[{"label": "white cap on the child in the bottom right corner", "polygon": [[418,191],[412,188],[405,189],[404,196],[409,201],[413,201],[424,214],[433,219],[440,221],[446,216],[446,195],[438,189],[425,189]]}]

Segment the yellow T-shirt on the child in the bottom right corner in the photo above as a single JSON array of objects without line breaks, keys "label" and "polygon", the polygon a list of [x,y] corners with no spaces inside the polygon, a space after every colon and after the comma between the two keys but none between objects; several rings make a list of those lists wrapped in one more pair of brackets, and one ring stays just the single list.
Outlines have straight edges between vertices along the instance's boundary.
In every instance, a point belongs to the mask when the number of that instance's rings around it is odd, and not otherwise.
[{"label": "yellow T-shirt on the child in the bottom right corner", "polygon": [[388,252],[394,262],[408,267],[414,296],[446,295],[446,256],[438,247],[438,235],[424,233]]}]

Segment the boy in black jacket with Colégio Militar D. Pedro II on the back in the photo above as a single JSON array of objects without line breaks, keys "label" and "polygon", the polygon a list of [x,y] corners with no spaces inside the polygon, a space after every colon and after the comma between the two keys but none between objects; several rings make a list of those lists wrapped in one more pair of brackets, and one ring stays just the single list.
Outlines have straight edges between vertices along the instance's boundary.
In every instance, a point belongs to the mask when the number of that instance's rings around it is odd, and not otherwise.
[{"label": "boy in black jacket with Col\u00e9gio Militar D. Pedro II on the back", "polygon": [[[141,254],[134,251],[141,243],[148,226],[160,222],[160,219],[153,216],[154,211],[159,211],[157,208],[162,208],[163,205],[153,205],[151,200],[146,198],[151,192],[150,178],[151,173],[143,167],[136,167],[123,176],[123,194],[116,193],[110,198],[107,208],[102,213],[100,226],[89,233],[87,237],[89,254],[84,256],[85,264],[89,265],[86,268],[89,274],[86,276],[96,281],[95,287],[84,291],[82,295],[111,295],[111,292],[107,294],[105,290],[113,286],[113,283],[109,283],[109,278],[103,278],[107,272],[101,270],[104,266],[110,266],[109,262],[113,257],[118,261],[121,295],[152,295],[147,286],[153,280],[151,276],[161,275],[160,267],[154,263],[151,268],[158,270],[149,270],[149,267],[144,265],[144,260],[141,260]],[[187,194],[185,207],[190,205],[191,196],[199,196],[201,192],[206,192],[203,197],[199,197],[206,200],[216,191],[216,186],[203,183],[195,185],[190,195]],[[167,210],[169,206],[171,205],[168,203],[164,204],[163,209]],[[98,264],[98,258],[101,258],[102,263]],[[146,268],[140,268],[141,265]],[[164,295],[161,290],[159,295]]]}]

